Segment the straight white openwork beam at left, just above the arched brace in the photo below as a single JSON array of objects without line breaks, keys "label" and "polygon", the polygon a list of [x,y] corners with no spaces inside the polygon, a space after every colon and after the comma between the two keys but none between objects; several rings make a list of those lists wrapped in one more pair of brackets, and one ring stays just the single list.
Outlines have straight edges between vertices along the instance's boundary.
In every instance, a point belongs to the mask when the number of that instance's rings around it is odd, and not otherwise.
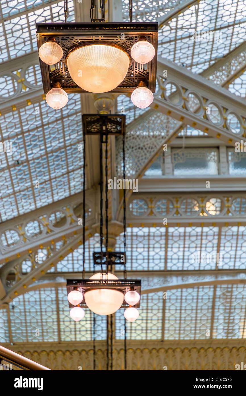
[{"label": "straight white openwork beam at left, just above the arched brace", "polygon": [[[86,227],[97,221],[98,192],[86,192]],[[23,214],[2,223],[0,228],[0,263],[32,253],[38,247],[49,246],[82,232],[82,194],[69,196],[53,204]]]}]

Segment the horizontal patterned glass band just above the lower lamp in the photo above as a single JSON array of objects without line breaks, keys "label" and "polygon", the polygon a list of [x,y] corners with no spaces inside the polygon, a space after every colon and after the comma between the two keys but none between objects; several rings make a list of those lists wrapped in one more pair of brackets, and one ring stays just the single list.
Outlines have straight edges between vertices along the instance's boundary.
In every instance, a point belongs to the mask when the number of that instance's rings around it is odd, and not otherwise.
[{"label": "horizontal patterned glass band just above the lower lamp", "polygon": [[[122,249],[123,234],[120,234],[115,251]],[[93,271],[93,252],[100,251],[98,234],[86,242],[85,251],[85,270]],[[216,253],[219,253],[218,267]],[[127,227],[126,255],[128,271],[243,270],[246,227]],[[81,272],[82,257],[80,246],[49,272]],[[117,265],[116,270],[123,269]]]}]

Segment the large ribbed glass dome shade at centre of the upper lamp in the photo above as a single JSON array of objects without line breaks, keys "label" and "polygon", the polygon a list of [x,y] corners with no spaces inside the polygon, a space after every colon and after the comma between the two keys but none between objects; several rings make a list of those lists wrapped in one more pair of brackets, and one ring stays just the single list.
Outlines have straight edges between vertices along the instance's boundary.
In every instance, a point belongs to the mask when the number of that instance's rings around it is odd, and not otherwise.
[{"label": "large ribbed glass dome shade at centre of the upper lamp", "polygon": [[83,46],[71,52],[66,63],[73,81],[88,92],[108,92],[126,77],[130,57],[106,44]]}]

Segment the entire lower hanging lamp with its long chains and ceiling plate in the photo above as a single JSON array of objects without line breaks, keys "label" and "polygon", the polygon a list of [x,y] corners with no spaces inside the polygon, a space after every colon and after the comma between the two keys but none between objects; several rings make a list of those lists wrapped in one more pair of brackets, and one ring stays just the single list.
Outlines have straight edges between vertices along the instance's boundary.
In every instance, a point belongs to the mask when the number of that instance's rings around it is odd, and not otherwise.
[{"label": "entire lower hanging lamp with its long chains and ceiling plate", "polygon": [[[126,191],[123,190],[123,230],[124,230],[124,252],[111,252],[108,248],[108,186],[104,180],[108,180],[108,138],[109,135],[123,135],[123,178],[125,179],[125,116],[119,114],[84,114],[83,117],[83,277],[82,279],[68,279],[67,291],[69,307],[89,308],[98,315],[111,315],[120,308],[140,305],[140,280],[118,279],[112,274],[113,266],[119,264],[126,268]],[[94,252],[94,268],[100,265],[100,272],[96,272],[89,279],[85,279],[85,136],[100,135],[100,252]],[[103,145],[105,145],[105,168],[103,169]],[[105,196],[105,204],[103,197]],[[105,235],[103,233],[103,207],[105,206]],[[105,251],[103,249],[105,242]],[[122,256],[124,261],[122,262]],[[73,310],[73,308],[72,308]],[[74,320],[83,318],[79,310],[70,316]],[[131,321],[133,316],[130,317]],[[135,314],[135,318],[137,318]],[[126,319],[128,319],[126,317]]]}]

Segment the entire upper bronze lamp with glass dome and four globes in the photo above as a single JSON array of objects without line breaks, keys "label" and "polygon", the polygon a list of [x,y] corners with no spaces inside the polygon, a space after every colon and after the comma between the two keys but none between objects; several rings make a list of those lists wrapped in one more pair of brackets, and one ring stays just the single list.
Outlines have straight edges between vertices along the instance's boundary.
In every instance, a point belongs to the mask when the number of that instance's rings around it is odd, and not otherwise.
[{"label": "entire upper bronze lamp with glass dome and four globes", "polygon": [[131,93],[144,109],[154,99],[158,24],[105,23],[104,1],[97,3],[92,0],[91,23],[67,23],[67,11],[65,23],[37,23],[46,101],[61,109],[68,93]]}]

